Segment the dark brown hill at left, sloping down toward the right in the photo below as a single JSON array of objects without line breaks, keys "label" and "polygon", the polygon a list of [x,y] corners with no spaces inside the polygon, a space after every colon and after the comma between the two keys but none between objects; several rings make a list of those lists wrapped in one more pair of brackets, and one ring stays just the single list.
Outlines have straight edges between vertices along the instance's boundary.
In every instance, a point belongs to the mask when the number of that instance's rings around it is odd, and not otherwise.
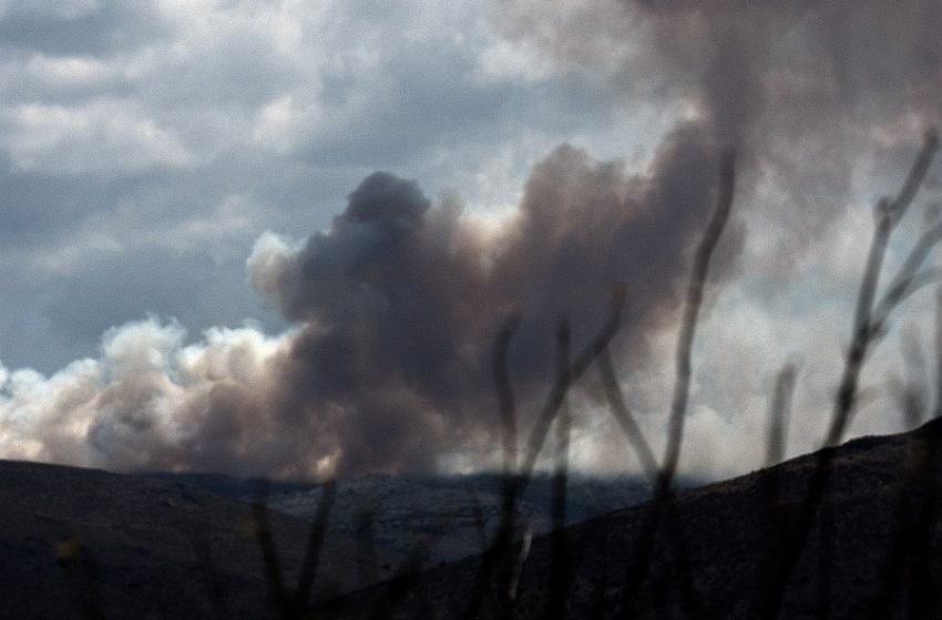
[{"label": "dark brown hill at left, sloping down toward the right", "polygon": [[[0,461],[0,618],[270,618],[249,517],[245,502],[178,482]],[[308,524],[270,521],[294,582]],[[359,550],[329,531],[315,599],[364,585]],[[377,578],[403,562],[376,558]]]}]

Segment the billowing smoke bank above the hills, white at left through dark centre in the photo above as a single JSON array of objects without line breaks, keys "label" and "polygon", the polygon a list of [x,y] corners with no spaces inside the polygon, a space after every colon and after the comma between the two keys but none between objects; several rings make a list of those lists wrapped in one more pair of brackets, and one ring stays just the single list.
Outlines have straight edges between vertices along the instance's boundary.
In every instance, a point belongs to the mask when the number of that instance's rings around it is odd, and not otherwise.
[{"label": "billowing smoke bank above the hills, white at left through dark centre", "polygon": [[299,247],[272,234],[256,244],[249,280],[295,330],[214,330],[186,347],[173,323],[125,326],[99,360],[4,376],[0,447],[117,469],[298,476],[428,469],[448,451],[496,445],[491,355],[509,314],[522,318],[510,364],[524,426],[552,380],[557,318],[584,345],[620,283],[618,343],[642,359],[648,330],[673,317],[716,151],[684,125],[632,175],[562,146],[499,226],[372,174],[329,229]]}]

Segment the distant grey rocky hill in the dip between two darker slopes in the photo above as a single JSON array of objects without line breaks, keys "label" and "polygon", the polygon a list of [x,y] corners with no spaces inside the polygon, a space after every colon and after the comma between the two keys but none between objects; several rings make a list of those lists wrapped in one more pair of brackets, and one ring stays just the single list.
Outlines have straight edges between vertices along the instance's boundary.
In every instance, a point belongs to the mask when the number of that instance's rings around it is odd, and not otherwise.
[{"label": "distant grey rocky hill in the dip between two darker slopes", "polygon": [[[198,485],[214,493],[250,500],[256,480],[214,474],[152,474],[161,479]],[[683,486],[695,486],[687,479]],[[320,485],[273,482],[268,506],[313,519]],[[567,484],[566,521],[575,524],[645,502],[651,485],[634,476],[574,476]],[[539,535],[552,528],[552,478],[534,477],[518,503],[521,533]],[[331,527],[354,537],[369,535],[376,545],[403,554],[422,549],[429,565],[452,561],[482,551],[482,538],[494,536],[500,524],[501,477],[373,474],[340,480],[331,512]],[[366,533],[367,518],[370,531]],[[483,534],[483,537],[482,537]]]}]

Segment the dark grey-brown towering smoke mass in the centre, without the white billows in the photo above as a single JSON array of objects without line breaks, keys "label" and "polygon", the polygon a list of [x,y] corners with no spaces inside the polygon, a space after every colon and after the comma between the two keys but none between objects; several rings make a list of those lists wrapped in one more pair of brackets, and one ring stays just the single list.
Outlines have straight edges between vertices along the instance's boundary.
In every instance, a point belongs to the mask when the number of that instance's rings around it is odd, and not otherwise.
[{"label": "dark grey-brown towering smoke mass in the centre, without the white billows", "polygon": [[493,443],[491,347],[509,312],[523,318],[511,364],[532,411],[549,390],[557,317],[587,341],[618,282],[631,303],[622,342],[643,354],[647,331],[672,314],[716,161],[694,125],[634,176],[562,146],[496,238],[455,205],[432,206],[414,182],[367,177],[329,230],[250,260],[256,288],[303,323],[279,369],[285,427],[334,437],[345,472],[428,468],[469,441]]}]

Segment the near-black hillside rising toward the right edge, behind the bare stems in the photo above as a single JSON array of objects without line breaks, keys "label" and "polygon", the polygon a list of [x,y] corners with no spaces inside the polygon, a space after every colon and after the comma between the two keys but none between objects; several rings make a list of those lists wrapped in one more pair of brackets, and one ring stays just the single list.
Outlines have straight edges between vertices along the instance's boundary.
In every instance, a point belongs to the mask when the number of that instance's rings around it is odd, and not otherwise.
[{"label": "near-black hillside rising toward the right edge, behind the bare stems", "polygon": [[[676,499],[674,530],[667,518],[649,519],[652,504],[617,510],[565,530],[565,547],[557,548],[567,549],[566,562],[555,562],[565,557],[553,548],[561,537],[535,538],[529,554],[515,548],[501,560],[470,614],[481,557],[367,588],[316,617],[368,618],[382,609],[382,618],[423,619],[936,618],[940,441],[936,420],[689,489]],[[787,557],[784,544],[795,536],[809,482],[823,462],[831,472],[823,500],[807,544],[796,548],[778,613],[768,616],[760,612],[770,591],[764,576],[778,566],[768,562]],[[649,561],[635,564],[652,523],[659,526]],[[515,562],[521,574],[508,604]]]}]

